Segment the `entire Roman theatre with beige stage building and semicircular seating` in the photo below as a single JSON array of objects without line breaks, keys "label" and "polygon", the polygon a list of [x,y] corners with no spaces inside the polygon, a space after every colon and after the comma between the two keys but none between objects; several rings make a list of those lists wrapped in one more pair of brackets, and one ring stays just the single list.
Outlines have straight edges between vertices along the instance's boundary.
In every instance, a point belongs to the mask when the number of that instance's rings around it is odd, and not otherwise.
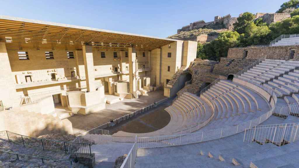
[{"label": "entire Roman theatre with beige stage building and semicircular seating", "polygon": [[52,167],[298,167],[298,44],[212,61],[194,41],[0,16],[0,151]]}]

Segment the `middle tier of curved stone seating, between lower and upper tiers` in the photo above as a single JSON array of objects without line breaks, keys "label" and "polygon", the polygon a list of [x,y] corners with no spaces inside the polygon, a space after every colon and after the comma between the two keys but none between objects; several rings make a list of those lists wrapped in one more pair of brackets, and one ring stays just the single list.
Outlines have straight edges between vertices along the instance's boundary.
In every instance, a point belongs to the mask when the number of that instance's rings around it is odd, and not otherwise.
[{"label": "middle tier of curved stone seating, between lower and upper tiers", "polygon": [[262,95],[231,80],[220,80],[200,97],[214,102],[215,115],[207,126],[197,132],[234,126],[270,110],[268,101]]}]

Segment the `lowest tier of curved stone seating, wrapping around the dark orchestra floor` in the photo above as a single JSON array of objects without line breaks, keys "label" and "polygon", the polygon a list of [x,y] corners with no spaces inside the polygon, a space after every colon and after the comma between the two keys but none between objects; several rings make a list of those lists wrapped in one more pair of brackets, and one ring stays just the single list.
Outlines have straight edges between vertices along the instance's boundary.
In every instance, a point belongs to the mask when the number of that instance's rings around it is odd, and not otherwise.
[{"label": "lowest tier of curved stone seating, wrapping around the dark orchestra floor", "polygon": [[184,92],[176,99],[173,104],[165,110],[170,114],[170,122],[163,128],[148,133],[129,133],[118,131],[113,136],[132,136],[147,137],[158,135],[171,135],[172,133],[181,132],[190,127],[199,125],[212,116],[211,106],[202,98]]}]

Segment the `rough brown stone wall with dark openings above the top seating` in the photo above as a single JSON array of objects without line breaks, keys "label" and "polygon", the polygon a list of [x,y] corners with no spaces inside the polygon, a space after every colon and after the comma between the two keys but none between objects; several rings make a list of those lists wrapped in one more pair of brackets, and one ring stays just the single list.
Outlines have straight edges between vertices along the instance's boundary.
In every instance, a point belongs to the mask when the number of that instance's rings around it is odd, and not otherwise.
[{"label": "rough brown stone wall with dark openings above the top seating", "polygon": [[247,51],[246,59],[259,59],[266,56],[268,59],[289,59],[291,50],[295,50],[294,59],[299,60],[299,46],[275,46],[275,47],[242,47],[229,48],[228,58],[243,58]]}]

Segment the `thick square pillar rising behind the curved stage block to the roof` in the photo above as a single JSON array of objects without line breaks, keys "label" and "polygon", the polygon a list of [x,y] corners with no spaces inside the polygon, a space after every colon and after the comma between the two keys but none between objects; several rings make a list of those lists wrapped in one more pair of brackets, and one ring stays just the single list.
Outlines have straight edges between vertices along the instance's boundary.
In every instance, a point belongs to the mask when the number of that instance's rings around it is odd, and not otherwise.
[{"label": "thick square pillar rising behind the curved stage block to the roof", "polygon": [[83,51],[83,60],[84,60],[84,68],[85,68],[85,76],[86,76],[86,87],[87,87],[87,91],[92,92],[95,91],[95,83],[94,83],[94,64],[93,64],[91,45],[83,45],[82,51]]}]

